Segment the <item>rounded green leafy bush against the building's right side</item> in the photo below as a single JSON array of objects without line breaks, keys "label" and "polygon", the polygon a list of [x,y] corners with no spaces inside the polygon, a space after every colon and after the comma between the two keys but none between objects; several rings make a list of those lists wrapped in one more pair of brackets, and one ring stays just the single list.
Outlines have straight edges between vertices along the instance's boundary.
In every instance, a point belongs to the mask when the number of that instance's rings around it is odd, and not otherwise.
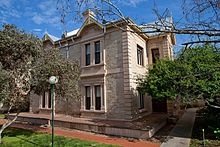
[{"label": "rounded green leafy bush against the building's right side", "polygon": [[[183,77],[188,78],[183,78]],[[188,96],[192,85],[191,67],[177,61],[163,59],[157,61],[144,79],[138,79],[138,89],[149,93],[153,98],[174,100],[178,94]]]}]

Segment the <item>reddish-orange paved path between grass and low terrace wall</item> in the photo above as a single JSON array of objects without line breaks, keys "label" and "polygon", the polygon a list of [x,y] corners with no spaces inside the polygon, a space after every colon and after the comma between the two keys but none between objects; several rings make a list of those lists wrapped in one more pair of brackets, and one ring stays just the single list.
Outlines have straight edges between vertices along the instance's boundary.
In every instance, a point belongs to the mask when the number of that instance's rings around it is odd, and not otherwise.
[{"label": "reddish-orange paved path between grass and low terrace wall", "polygon": [[[0,124],[2,123],[3,121],[0,119]],[[27,124],[15,123],[15,124],[12,124],[12,127],[34,130],[37,132],[51,133],[50,128],[42,128],[39,126],[33,126],[33,125],[27,125]],[[78,138],[82,140],[89,140],[89,141],[96,141],[100,143],[119,145],[119,146],[124,146],[124,147],[160,147],[160,144],[151,143],[148,141],[141,141],[141,140],[135,140],[135,139],[129,140],[129,139],[124,139],[124,138],[109,137],[105,135],[98,135],[98,134],[93,134],[93,133],[77,131],[77,130],[67,130],[67,129],[62,129],[62,128],[55,128],[55,134],[61,135],[61,136],[72,137],[72,138]]]}]

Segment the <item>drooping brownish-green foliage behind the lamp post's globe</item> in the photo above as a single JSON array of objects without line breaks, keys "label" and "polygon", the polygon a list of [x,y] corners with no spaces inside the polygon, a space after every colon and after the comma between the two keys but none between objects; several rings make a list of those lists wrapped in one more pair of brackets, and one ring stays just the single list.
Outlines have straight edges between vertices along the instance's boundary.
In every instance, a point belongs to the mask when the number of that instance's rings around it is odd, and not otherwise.
[{"label": "drooping brownish-green foliage behind the lamp post's globe", "polygon": [[79,97],[79,63],[75,60],[66,60],[55,48],[43,50],[35,64],[32,81],[34,92],[42,94],[49,91],[51,87],[48,79],[52,75],[59,78],[55,85],[58,96],[72,99]]}]

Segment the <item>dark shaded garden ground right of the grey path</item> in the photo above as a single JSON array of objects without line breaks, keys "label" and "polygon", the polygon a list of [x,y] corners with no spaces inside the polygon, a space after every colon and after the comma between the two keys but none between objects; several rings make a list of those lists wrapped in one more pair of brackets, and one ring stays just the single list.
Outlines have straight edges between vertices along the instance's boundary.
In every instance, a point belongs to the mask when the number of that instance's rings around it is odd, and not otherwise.
[{"label": "dark shaded garden ground right of the grey path", "polygon": [[[193,127],[190,147],[219,147],[220,140],[216,138],[214,130],[220,127],[219,118],[216,118],[213,114],[219,114],[212,109],[202,109],[196,114],[195,124]],[[213,113],[214,112],[214,113]],[[203,131],[205,135],[205,141],[203,141]]]}]

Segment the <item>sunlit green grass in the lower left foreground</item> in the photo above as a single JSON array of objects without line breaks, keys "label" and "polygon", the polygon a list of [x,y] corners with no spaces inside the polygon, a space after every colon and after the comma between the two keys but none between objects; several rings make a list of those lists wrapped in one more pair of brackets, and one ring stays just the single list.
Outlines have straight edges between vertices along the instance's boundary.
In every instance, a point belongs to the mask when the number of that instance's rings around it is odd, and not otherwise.
[{"label": "sunlit green grass in the lower left foreground", "polygon": [[[92,141],[55,136],[55,147],[116,147]],[[24,129],[8,128],[3,132],[1,147],[49,147],[51,135]]]}]

